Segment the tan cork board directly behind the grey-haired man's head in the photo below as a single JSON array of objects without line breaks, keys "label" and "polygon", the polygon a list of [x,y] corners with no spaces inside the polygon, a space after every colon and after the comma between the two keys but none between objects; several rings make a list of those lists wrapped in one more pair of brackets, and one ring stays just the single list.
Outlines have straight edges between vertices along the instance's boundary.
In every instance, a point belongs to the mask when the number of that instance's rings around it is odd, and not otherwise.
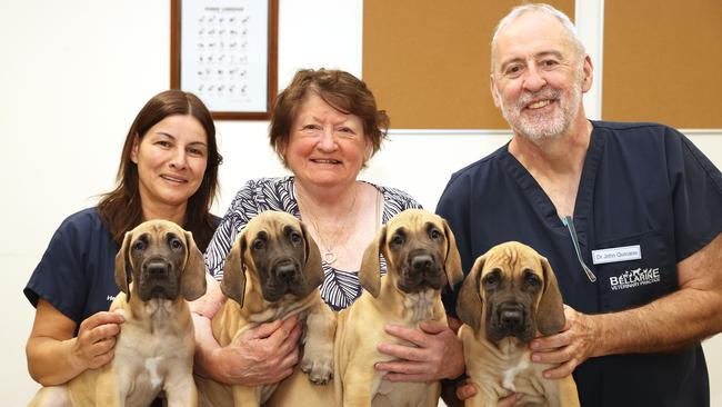
[{"label": "tan cork board directly behind the grey-haired man's head", "polygon": [[[574,16],[574,0],[550,4]],[[489,90],[491,36],[520,1],[364,0],[363,80],[394,129],[507,129]]]}]

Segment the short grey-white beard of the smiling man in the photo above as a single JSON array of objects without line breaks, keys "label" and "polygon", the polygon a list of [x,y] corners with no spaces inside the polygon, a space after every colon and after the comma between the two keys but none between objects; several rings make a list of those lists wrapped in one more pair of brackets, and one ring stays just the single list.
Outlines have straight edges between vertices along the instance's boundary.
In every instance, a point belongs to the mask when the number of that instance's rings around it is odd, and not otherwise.
[{"label": "short grey-white beard of the smiling man", "polygon": [[[569,129],[579,111],[582,85],[580,80],[575,80],[574,86],[566,93],[545,86],[538,92],[522,93],[512,106],[507,106],[501,97],[499,100],[501,112],[514,132],[531,141],[540,142],[558,138]],[[532,100],[549,100],[559,106],[552,113],[535,115],[533,110],[527,110],[527,115],[522,116],[524,107]]]}]

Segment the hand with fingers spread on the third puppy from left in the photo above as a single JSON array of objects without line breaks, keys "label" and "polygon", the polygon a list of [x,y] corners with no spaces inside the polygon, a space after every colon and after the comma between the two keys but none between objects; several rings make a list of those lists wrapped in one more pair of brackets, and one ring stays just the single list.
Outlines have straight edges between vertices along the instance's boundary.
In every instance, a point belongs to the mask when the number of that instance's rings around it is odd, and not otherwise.
[{"label": "hand with fingers spread on the third puppy from left", "polygon": [[387,325],[387,334],[414,346],[380,344],[379,351],[400,360],[377,364],[377,370],[388,371],[390,381],[430,381],[459,377],[464,371],[461,340],[445,324],[424,321],[420,329]]}]

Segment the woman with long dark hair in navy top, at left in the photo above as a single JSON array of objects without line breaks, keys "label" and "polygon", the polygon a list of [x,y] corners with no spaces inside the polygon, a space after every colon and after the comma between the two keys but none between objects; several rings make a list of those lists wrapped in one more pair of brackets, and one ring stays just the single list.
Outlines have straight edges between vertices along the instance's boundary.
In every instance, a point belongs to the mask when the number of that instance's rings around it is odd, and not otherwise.
[{"label": "woman with long dark hair in navy top, at left", "polygon": [[218,225],[210,207],[221,161],[200,99],[168,90],[146,103],[126,137],[118,186],[60,225],[24,289],[36,307],[26,347],[36,381],[60,385],[112,359],[123,319],[108,308],[118,294],[114,259],[126,231],[171,220],[205,249]]}]

